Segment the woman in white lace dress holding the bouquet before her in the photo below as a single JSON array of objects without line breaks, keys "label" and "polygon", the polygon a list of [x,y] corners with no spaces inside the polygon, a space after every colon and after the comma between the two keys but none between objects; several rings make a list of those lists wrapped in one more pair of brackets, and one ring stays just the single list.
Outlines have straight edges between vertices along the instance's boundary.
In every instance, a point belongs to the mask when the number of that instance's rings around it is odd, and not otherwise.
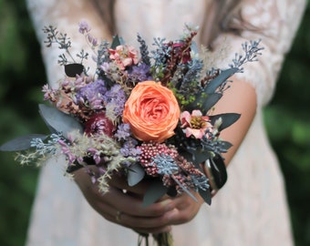
[{"label": "woman in white lace dress holding the bouquet before her", "polygon": [[[109,193],[101,196],[83,169],[75,173],[77,186],[62,177],[59,165],[47,165],[38,184],[28,245],[136,245],[135,231],[170,231],[171,226],[177,246],[293,244],[284,181],[263,129],[262,108],[273,95],[304,0],[28,0],[28,7],[41,44],[42,27],[53,25],[71,36],[79,50],[85,42],[76,30],[84,19],[94,36],[110,40],[118,33],[129,44],[136,42],[138,32],[150,44],[152,37],[178,38],[184,23],[201,26],[196,41],[220,54],[214,56],[219,67],[227,66],[245,41],[262,39],[264,47],[260,61],[244,67],[216,105],[216,112],[242,117],[222,132],[233,143],[225,156],[229,179],[211,207],[182,195],[142,208],[139,198],[121,190],[140,194],[143,186],[130,190],[113,179]],[[63,77],[59,54],[44,46],[42,51],[53,85]]]}]

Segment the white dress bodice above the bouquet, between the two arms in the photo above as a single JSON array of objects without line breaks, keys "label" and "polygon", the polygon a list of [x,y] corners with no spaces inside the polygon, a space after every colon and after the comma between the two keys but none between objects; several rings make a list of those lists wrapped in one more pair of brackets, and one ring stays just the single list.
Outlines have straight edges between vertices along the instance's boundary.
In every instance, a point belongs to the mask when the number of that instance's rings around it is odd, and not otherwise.
[{"label": "white dress bodice above the bouquet, between the two arms", "polygon": [[137,33],[145,37],[148,44],[153,37],[175,40],[181,36],[185,24],[201,26],[208,2],[118,0],[115,5],[117,32],[130,44],[136,41]]}]

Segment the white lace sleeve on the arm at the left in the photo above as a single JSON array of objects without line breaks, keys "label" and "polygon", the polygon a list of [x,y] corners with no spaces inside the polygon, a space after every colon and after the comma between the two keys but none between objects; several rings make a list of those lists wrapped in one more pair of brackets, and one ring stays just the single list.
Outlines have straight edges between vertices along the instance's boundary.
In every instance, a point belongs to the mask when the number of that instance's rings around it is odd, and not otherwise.
[{"label": "white lace sleeve on the arm at the left", "polygon": [[[59,79],[65,76],[64,70],[59,67],[57,60],[59,55],[64,53],[59,50],[57,44],[53,47],[47,47],[44,41],[47,39],[43,32],[44,26],[55,26],[61,33],[66,33],[72,41],[70,53],[76,56],[81,49],[89,51],[89,47],[85,40],[85,36],[78,33],[78,23],[86,20],[89,26],[100,26],[91,30],[91,34],[98,38],[110,38],[109,28],[98,15],[98,11],[92,4],[92,1],[83,0],[26,0],[27,8],[33,21],[37,39],[42,47],[42,56],[47,70],[47,79],[51,87],[57,87]],[[89,54],[91,59],[91,55]],[[88,64],[86,61],[85,67],[93,66],[94,63]],[[95,72],[90,67],[90,73]]]}]

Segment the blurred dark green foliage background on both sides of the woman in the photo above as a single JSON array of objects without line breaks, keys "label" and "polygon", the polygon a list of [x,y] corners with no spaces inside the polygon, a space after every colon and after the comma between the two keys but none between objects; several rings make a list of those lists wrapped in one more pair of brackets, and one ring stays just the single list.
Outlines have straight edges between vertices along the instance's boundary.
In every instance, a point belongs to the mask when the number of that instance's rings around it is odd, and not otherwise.
[{"label": "blurred dark green foliage background on both sides of the woman", "polygon": [[[310,245],[310,5],[284,63],[265,124],[281,161],[296,246]],[[46,83],[24,0],[0,0],[0,143],[46,133],[37,113]],[[22,246],[38,169],[0,153],[0,245]]]}]

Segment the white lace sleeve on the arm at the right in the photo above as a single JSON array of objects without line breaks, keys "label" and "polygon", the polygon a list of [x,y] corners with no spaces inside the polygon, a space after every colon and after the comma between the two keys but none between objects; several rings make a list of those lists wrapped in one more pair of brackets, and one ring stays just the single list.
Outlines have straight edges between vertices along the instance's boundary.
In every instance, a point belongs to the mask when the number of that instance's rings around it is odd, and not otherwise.
[{"label": "white lace sleeve on the arm at the right", "polygon": [[[229,45],[228,54],[234,54],[246,40],[261,39],[263,56],[259,62],[244,66],[244,73],[237,77],[252,83],[256,89],[258,105],[265,105],[273,96],[275,82],[289,51],[295,32],[305,10],[305,0],[246,0],[239,12],[229,18],[227,28],[238,30],[240,35],[222,33],[213,46]],[[239,49],[238,53],[242,53]],[[225,57],[225,56],[224,56]],[[231,63],[225,60],[224,65]],[[222,62],[221,62],[221,65]]]}]

